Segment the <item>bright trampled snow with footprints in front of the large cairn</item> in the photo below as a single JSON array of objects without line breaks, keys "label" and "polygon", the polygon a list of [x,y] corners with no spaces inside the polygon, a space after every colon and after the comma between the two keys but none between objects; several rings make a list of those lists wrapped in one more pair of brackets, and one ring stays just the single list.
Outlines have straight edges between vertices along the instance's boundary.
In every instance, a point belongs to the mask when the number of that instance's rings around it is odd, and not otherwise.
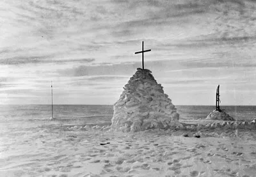
[{"label": "bright trampled snow with footprints in front of the large cairn", "polygon": [[0,176],[245,177],[256,172],[255,129],[208,129],[195,138],[197,130],[124,133],[101,126],[45,126],[12,142],[1,138]]}]

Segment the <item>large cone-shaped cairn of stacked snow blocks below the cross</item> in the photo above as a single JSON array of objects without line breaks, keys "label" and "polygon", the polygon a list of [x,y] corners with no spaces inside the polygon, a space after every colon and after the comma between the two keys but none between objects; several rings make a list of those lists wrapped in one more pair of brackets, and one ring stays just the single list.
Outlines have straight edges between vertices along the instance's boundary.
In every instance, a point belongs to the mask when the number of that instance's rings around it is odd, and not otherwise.
[{"label": "large cone-shaped cairn of stacked snow blocks below the cross", "polygon": [[114,104],[111,129],[138,132],[180,126],[172,100],[148,69],[138,68]]}]

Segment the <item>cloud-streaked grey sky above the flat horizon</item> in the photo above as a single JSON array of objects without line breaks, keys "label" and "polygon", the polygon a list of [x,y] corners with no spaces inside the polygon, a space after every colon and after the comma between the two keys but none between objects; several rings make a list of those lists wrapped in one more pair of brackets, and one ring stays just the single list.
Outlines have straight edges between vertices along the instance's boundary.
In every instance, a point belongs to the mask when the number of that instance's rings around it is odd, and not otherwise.
[{"label": "cloud-streaked grey sky above the flat horizon", "polygon": [[1,0],[0,104],[114,104],[137,67],[173,104],[256,105],[256,1]]}]

